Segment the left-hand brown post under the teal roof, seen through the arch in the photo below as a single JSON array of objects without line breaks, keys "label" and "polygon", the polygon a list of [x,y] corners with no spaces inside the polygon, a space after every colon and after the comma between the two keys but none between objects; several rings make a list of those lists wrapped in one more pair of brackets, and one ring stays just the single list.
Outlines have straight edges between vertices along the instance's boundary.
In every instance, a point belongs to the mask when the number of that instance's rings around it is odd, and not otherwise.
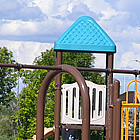
[{"label": "left-hand brown post under the teal roof, seen through the arch", "polygon": [[[62,64],[62,52],[56,52],[56,65]],[[61,111],[61,74],[56,77],[55,84],[55,108],[54,108],[54,125],[55,125],[55,140],[59,140],[59,125]]]}]

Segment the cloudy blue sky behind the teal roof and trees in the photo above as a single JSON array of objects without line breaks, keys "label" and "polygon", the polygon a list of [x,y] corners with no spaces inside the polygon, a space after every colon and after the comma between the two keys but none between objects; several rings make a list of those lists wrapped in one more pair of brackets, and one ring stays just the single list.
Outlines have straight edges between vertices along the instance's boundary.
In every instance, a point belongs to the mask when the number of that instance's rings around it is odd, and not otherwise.
[{"label": "cloudy blue sky behind the teal roof and trees", "polygon": [[[0,0],[0,47],[13,51],[18,63],[32,64],[50,49],[79,17],[92,17],[117,46],[115,69],[140,69],[140,0]],[[105,55],[94,54],[95,67]],[[118,75],[121,91],[133,75]]]}]

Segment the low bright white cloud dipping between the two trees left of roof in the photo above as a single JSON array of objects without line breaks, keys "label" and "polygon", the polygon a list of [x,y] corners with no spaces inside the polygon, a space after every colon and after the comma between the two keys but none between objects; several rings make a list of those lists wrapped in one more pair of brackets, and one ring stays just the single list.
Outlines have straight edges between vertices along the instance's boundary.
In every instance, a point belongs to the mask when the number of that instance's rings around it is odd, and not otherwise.
[{"label": "low bright white cloud dipping between the two trees left of roof", "polygon": [[6,47],[13,52],[13,56],[18,63],[32,64],[35,57],[46,49],[51,49],[53,44],[40,42],[23,42],[0,40],[0,47]]}]

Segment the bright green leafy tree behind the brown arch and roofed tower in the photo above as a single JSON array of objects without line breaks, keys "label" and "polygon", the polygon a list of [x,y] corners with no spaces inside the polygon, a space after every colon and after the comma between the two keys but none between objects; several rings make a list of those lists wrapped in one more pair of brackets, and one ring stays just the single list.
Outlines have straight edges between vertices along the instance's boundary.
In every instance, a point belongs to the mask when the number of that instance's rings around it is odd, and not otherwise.
[{"label": "bright green leafy tree behind the brown arch and roofed tower", "polygon": [[[35,65],[51,66],[55,65],[56,52],[46,50],[42,52],[39,57],[34,60]],[[94,67],[95,57],[91,53],[63,53],[63,64],[68,64],[78,67]],[[36,105],[37,96],[43,79],[45,78],[48,70],[22,70],[21,77],[25,87],[20,94],[20,110],[19,110],[19,138],[29,139],[36,132]],[[82,72],[85,79],[94,83],[103,84],[104,77],[101,73],[95,72]],[[69,74],[62,75],[63,83],[75,82],[74,78]],[[54,125],[54,87],[55,80],[51,83],[46,99],[45,105],[45,127],[53,127]]]}]

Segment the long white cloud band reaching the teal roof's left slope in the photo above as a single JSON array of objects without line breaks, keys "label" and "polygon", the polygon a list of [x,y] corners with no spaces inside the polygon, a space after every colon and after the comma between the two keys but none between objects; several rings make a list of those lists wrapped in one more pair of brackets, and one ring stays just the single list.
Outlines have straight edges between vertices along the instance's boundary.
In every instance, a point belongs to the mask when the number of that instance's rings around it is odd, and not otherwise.
[{"label": "long white cloud band reaching the teal roof's left slope", "polygon": [[[65,24],[59,19],[50,18],[41,22],[21,21],[21,20],[3,20],[0,26],[0,36],[13,37],[15,40],[22,37],[28,41],[36,39],[42,42],[54,42],[58,37],[72,24],[66,21]],[[30,38],[29,38],[30,36]],[[38,36],[38,38],[36,37]],[[21,38],[21,40],[22,40]],[[42,39],[41,39],[42,40]]]}]

